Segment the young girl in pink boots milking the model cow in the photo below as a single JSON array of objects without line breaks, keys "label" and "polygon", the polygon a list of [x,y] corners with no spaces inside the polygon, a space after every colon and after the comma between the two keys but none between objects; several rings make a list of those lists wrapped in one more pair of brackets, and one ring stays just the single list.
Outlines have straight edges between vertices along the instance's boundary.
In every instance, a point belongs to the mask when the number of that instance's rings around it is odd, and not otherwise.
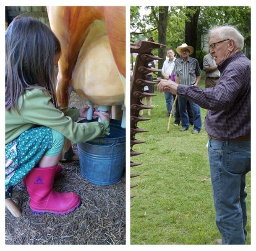
[{"label": "young girl in pink boots milking the model cow", "polygon": [[87,106],[57,108],[60,53],[60,42],[39,20],[18,16],[5,32],[5,189],[23,179],[33,213],[62,215],[80,205],[75,193],[52,189],[65,137],[77,143],[109,131],[108,114],[96,111],[101,122],[76,123]]}]

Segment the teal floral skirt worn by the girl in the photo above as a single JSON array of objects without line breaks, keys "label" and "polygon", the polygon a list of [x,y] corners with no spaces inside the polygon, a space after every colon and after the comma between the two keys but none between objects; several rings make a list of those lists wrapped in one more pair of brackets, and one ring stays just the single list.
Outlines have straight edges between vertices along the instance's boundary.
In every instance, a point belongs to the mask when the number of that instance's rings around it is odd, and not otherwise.
[{"label": "teal floral skirt worn by the girl", "polygon": [[5,189],[18,184],[52,146],[51,128],[31,128],[5,145]]}]

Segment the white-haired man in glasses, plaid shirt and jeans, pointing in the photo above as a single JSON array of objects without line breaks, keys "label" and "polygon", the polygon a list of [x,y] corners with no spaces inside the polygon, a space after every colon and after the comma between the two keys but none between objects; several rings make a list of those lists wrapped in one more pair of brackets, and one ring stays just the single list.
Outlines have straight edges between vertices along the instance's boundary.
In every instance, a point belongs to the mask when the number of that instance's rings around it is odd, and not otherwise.
[{"label": "white-haired man in glasses, plaid shirt and jeans, pointing", "polygon": [[177,85],[161,80],[159,91],[189,98],[206,108],[208,155],[216,224],[222,244],[246,244],[246,174],[251,170],[251,61],[244,38],[231,26],[210,31],[209,49],[221,72],[217,85]]}]

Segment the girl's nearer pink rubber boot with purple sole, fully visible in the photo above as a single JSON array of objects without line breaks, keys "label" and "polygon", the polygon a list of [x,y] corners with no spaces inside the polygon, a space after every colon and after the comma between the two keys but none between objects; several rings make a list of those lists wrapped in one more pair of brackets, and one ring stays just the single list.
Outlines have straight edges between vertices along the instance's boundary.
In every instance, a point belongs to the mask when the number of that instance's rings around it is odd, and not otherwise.
[{"label": "girl's nearer pink rubber boot with purple sole, fully visible", "polygon": [[33,213],[64,215],[72,212],[81,203],[73,192],[61,193],[52,189],[56,166],[33,168],[24,178]]}]

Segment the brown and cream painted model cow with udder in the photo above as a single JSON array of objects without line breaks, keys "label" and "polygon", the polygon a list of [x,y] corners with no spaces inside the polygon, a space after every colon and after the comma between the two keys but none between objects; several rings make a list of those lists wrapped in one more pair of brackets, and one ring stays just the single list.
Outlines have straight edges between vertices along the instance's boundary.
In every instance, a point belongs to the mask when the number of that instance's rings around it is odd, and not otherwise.
[{"label": "brown and cream painted model cow with udder", "polygon": [[125,127],[125,6],[47,6],[47,13],[62,50],[59,105],[68,106],[73,90],[91,108],[119,108],[112,109],[112,118],[123,116]]}]

